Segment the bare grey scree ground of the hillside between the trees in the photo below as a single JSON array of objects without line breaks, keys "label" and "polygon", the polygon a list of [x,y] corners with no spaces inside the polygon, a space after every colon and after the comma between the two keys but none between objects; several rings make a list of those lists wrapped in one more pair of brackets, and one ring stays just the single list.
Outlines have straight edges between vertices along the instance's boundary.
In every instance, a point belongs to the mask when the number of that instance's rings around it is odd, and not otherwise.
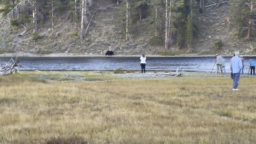
[{"label": "bare grey scree ground of the hillside between the trees", "polygon": [[[33,40],[33,30],[18,37],[23,29],[12,29],[4,35],[7,41],[5,41],[5,45],[0,43],[0,50],[2,53],[75,53],[84,55],[104,55],[108,50],[113,51],[115,55],[141,53],[149,55],[164,51],[164,43],[157,47],[149,44],[150,31],[143,29],[143,26],[147,25],[143,21],[140,23],[141,31],[138,31],[137,35],[131,35],[130,40],[126,42],[122,36],[124,29],[118,25],[118,6],[112,1],[94,1],[92,7],[89,16],[91,18],[94,12],[95,15],[84,41],[79,41],[79,33],[75,32],[75,24],[68,19],[67,13],[63,13],[56,21],[54,35],[51,33],[50,20],[43,24],[39,23],[38,34],[42,37],[37,41]],[[228,4],[206,9],[204,14],[199,15],[198,27],[201,29],[194,37],[193,53],[231,55],[235,50],[239,50],[244,54],[252,54],[254,43],[248,44],[244,39],[239,39],[233,25]],[[164,34],[162,36],[164,37]],[[214,49],[214,44],[220,40],[223,43],[222,49]],[[178,49],[175,43],[172,43],[170,51],[187,53],[186,49]]]}]

